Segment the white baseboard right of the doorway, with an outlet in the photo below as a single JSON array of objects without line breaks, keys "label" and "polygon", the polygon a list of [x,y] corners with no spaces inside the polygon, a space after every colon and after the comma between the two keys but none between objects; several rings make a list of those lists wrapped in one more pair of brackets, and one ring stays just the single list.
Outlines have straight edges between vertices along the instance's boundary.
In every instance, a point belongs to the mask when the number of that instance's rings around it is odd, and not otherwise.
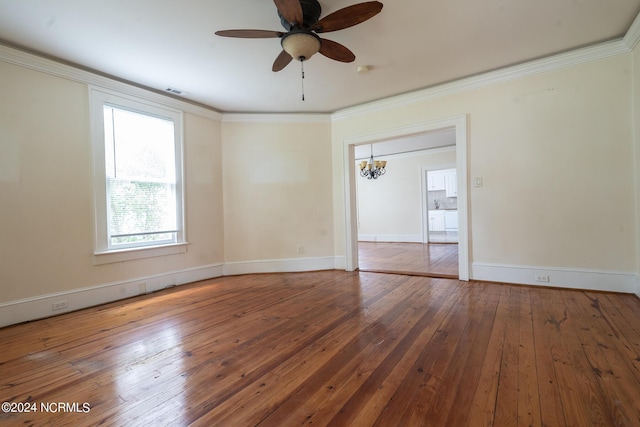
[{"label": "white baseboard right of the doorway, with an outlet", "polygon": [[[548,278],[549,281],[537,278]],[[618,271],[474,262],[471,265],[471,279],[639,295],[637,274]]]}]

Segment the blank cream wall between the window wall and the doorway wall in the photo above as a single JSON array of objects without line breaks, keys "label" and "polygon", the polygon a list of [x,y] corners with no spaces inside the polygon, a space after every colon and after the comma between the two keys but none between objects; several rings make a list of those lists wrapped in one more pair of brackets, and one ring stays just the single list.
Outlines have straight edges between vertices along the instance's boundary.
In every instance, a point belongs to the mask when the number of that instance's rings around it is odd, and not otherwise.
[{"label": "blank cream wall between the window wall and the doorway wall", "polygon": [[334,267],[330,126],[225,116],[225,272]]}]

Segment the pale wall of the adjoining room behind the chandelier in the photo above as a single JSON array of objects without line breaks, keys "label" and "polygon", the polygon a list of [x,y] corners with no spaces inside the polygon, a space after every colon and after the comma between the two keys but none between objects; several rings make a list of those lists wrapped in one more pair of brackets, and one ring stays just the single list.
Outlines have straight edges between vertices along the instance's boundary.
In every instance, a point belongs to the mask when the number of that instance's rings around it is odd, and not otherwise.
[{"label": "pale wall of the adjoining room behind the chandelier", "polygon": [[[422,242],[424,178],[421,168],[455,166],[455,148],[380,156],[379,159],[388,161],[384,176],[376,180],[358,176],[355,180],[358,239]],[[426,202],[426,196],[424,200]]]}]

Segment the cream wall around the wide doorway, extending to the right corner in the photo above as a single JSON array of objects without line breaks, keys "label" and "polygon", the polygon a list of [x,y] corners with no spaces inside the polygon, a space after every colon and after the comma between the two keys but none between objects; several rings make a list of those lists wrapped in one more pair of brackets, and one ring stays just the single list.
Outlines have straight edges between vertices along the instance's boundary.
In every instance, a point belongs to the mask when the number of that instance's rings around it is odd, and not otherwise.
[{"label": "cream wall around the wide doorway, extending to the right corner", "polygon": [[[619,54],[346,111],[334,119],[334,164],[344,162],[345,141],[360,135],[466,114],[472,278],[531,283],[542,271],[546,285],[583,280],[629,291],[637,271],[631,65],[630,54]],[[470,185],[474,177],[483,177],[482,188]],[[340,254],[344,184],[336,169]]]}]

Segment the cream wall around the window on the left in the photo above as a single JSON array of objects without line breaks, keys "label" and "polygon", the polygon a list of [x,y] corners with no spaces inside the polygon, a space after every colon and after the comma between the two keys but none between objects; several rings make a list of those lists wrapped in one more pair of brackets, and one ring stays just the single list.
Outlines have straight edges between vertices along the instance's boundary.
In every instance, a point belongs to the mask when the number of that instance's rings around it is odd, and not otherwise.
[{"label": "cream wall around the window on the left", "polygon": [[94,265],[87,84],[1,60],[0,75],[0,326],[221,272],[219,118],[184,115],[187,252]]}]

